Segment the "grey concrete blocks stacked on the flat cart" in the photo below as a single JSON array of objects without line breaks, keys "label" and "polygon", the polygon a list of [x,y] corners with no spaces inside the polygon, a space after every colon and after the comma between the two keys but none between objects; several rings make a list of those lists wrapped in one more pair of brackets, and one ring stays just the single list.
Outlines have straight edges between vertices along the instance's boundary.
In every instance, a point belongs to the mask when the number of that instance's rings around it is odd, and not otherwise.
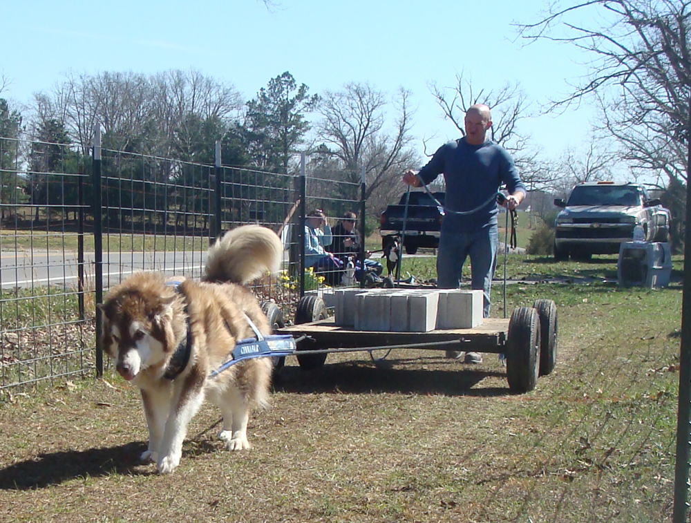
[{"label": "grey concrete blocks stacked on the flat cart", "polygon": [[429,332],[482,323],[482,291],[460,289],[338,289],[335,323],[354,330]]}]

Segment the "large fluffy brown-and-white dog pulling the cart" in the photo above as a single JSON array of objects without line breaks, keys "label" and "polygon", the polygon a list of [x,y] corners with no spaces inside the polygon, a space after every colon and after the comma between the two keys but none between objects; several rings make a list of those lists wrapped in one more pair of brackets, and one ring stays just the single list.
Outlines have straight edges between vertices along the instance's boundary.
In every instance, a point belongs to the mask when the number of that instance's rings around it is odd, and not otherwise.
[{"label": "large fluffy brown-and-white dog pulling the cart", "polygon": [[265,227],[232,229],[210,249],[200,282],[171,285],[161,274],[126,278],[106,295],[102,310],[104,351],[120,375],[141,390],[149,447],[143,462],[158,472],[180,464],[187,425],[205,398],[223,413],[218,437],[229,450],[249,448],[252,408],[267,405],[269,357],[243,359],[211,377],[236,342],[263,336],[271,327],[257,299],[243,285],[280,268],[283,247]]}]

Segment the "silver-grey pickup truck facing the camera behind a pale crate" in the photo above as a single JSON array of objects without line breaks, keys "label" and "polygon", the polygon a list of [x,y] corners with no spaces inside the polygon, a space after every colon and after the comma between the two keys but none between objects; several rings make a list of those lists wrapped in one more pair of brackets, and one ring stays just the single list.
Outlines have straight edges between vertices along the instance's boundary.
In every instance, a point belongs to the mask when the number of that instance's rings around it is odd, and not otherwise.
[{"label": "silver-grey pickup truck facing the camera behind a pale crate", "polygon": [[557,261],[618,254],[621,243],[632,240],[637,225],[645,241],[670,238],[669,209],[650,198],[641,184],[583,182],[571,190],[567,201],[557,198],[554,205],[562,208],[555,223]]}]

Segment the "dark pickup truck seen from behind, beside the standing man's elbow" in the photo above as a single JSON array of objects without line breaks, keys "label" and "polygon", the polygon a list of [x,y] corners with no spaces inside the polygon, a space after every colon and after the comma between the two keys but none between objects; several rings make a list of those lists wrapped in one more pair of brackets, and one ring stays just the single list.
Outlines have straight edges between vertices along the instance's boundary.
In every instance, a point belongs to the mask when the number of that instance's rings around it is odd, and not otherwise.
[{"label": "dark pickup truck seen from behind, beside the standing man's elbow", "polygon": [[[410,195],[410,200],[406,216],[408,195]],[[444,205],[443,192],[435,192],[433,195],[440,204]],[[404,216],[406,216],[405,227]],[[404,193],[396,205],[389,205],[379,216],[381,246],[386,251],[393,244],[393,240],[403,236],[405,228],[403,246],[406,254],[415,254],[419,247],[436,249],[439,247],[442,218],[444,218],[443,210],[425,191]]]}]

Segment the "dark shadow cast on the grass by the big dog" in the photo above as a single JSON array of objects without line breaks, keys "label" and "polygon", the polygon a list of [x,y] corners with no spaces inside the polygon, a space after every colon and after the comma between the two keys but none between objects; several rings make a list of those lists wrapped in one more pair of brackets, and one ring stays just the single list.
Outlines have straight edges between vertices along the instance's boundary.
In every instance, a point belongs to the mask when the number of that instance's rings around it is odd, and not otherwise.
[{"label": "dark shadow cast on the grass by the big dog", "polygon": [[60,484],[77,477],[110,474],[147,474],[137,470],[139,456],[146,450],[142,441],[107,448],[66,450],[39,454],[26,461],[0,469],[0,489],[25,491]]}]

